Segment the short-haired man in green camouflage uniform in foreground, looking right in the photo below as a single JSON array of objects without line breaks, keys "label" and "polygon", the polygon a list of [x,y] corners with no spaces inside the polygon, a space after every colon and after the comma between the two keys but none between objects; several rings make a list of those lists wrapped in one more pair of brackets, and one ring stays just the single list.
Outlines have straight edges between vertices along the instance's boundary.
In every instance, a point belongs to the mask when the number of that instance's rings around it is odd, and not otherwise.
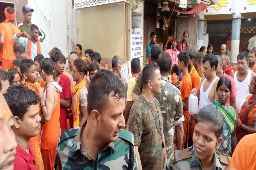
[{"label": "short-haired man in green camouflage uniform in foreground, looking right", "polygon": [[88,119],[81,127],[61,132],[55,169],[137,170],[133,134],[121,129],[126,93],[113,72],[100,70],[94,76],[88,89]]}]

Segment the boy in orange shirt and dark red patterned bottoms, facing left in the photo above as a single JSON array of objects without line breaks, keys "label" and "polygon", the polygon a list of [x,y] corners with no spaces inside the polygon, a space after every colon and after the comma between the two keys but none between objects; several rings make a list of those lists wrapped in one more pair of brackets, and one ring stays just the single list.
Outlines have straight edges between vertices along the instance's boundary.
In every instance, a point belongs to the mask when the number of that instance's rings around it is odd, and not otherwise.
[{"label": "boy in orange shirt and dark red patterned bottoms, facing left", "polygon": [[183,136],[183,145],[188,142],[189,138],[189,128],[190,128],[190,115],[188,113],[188,98],[192,90],[191,76],[188,72],[188,63],[189,63],[189,53],[187,51],[182,51],[178,55],[178,67],[179,71],[182,72],[181,82],[180,82],[180,93],[183,103],[183,115],[185,121],[183,122],[184,136]]}]

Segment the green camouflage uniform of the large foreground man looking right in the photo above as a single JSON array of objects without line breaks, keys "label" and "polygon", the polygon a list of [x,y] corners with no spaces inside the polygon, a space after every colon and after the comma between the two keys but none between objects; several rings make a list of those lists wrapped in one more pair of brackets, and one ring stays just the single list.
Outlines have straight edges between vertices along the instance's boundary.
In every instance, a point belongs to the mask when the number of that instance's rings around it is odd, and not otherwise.
[{"label": "green camouflage uniform of the large foreground man looking right", "polygon": [[118,140],[107,144],[98,153],[96,160],[93,160],[82,150],[80,143],[86,123],[87,121],[81,127],[61,131],[55,159],[56,170],[128,170],[131,168],[131,149],[134,153],[133,170],[137,170],[138,162],[131,132],[121,129]]}]

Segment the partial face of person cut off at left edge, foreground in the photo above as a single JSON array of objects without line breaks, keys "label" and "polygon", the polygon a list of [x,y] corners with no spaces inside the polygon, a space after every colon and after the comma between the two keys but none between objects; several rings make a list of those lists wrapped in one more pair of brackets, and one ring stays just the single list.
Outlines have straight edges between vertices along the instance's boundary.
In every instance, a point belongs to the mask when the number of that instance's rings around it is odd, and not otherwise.
[{"label": "partial face of person cut off at left edge, foreground", "polygon": [[14,169],[14,159],[17,143],[12,127],[12,113],[3,97],[0,95],[0,169]]}]

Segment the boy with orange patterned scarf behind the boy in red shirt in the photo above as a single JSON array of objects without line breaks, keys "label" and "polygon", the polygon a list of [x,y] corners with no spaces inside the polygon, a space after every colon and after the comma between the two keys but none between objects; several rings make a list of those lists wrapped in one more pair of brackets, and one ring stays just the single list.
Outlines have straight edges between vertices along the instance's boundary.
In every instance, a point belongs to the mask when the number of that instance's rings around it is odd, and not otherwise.
[{"label": "boy with orange patterned scarf behind the boy in red shirt", "polygon": [[[38,87],[37,83],[38,72],[36,71],[35,62],[31,59],[23,59],[20,64],[20,71],[25,81],[23,83],[24,86],[28,87],[32,91],[36,92],[38,95]],[[40,104],[39,104],[40,106]],[[42,115],[41,109],[39,110],[39,115]],[[29,143],[32,145],[33,150],[35,152],[36,157],[36,165],[39,170],[44,169],[43,158],[41,154],[41,145],[40,145],[40,134],[41,127],[39,128],[39,133],[30,138]]]}]

